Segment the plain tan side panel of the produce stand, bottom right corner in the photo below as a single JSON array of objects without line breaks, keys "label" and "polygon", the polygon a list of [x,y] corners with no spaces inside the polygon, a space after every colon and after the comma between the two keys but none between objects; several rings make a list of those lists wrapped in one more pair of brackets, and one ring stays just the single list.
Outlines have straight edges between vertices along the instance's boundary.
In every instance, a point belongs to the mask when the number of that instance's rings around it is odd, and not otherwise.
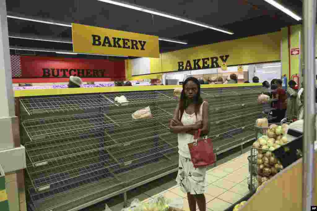
[{"label": "plain tan side panel of the produce stand, bottom right corner", "polygon": [[[314,154],[317,168],[317,153]],[[266,182],[250,197],[239,211],[302,210],[302,158],[298,159]],[[317,184],[317,177],[314,177]],[[317,202],[317,189],[313,192],[313,204]]]}]

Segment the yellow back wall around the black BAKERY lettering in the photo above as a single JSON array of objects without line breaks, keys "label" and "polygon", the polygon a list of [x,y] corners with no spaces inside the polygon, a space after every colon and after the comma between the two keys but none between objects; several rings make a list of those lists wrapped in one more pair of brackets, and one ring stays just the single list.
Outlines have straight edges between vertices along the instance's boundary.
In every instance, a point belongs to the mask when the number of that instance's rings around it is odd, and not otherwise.
[{"label": "yellow back wall around the black BAKERY lettering", "polygon": [[[226,62],[227,65],[278,61],[281,59],[281,35],[281,32],[275,32],[162,53],[160,58],[150,59],[150,72],[177,71],[179,61],[184,61],[185,65],[186,61],[190,60],[193,65],[193,59],[219,57],[221,55],[230,55]],[[210,64],[210,61],[208,64]],[[126,78],[128,80],[161,77],[161,74],[132,77],[130,67],[126,65]]]}]

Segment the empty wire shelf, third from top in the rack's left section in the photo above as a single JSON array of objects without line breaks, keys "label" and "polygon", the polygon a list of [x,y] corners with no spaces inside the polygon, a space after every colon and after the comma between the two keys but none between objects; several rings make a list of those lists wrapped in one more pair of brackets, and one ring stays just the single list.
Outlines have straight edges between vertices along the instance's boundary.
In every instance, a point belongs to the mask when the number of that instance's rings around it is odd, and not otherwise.
[{"label": "empty wire shelf, third from top in the rack's left section", "polygon": [[117,145],[119,144],[108,139],[104,132],[99,132],[73,136],[67,139],[28,142],[25,144],[25,149],[33,166],[38,166],[64,157],[99,151]]}]

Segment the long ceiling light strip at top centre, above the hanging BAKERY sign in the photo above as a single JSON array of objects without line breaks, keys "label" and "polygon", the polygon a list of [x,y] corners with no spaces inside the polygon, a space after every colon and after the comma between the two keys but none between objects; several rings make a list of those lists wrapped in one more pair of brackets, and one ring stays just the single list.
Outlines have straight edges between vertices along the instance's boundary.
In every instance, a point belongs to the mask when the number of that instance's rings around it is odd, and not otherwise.
[{"label": "long ceiling light strip at top centre, above the hanging BAKERY sign", "polygon": [[186,18],[174,16],[174,15],[171,15],[171,14],[166,14],[166,13],[163,13],[163,12],[155,11],[153,9],[143,8],[143,7],[140,7],[138,5],[132,5],[130,3],[113,1],[113,0],[98,0],[98,1],[109,3],[109,4],[114,4],[114,5],[121,6],[121,7],[126,7],[126,8],[129,8],[129,9],[135,9],[135,10],[146,12],[146,13],[150,13],[150,14],[153,14],[153,15],[158,15],[158,16],[162,16],[162,17],[166,17],[166,18],[171,18],[171,19],[174,19],[174,20],[177,20],[177,21],[186,22],[186,23],[190,23],[190,24],[201,26],[201,27],[205,27],[205,28],[210,28],[210,29],[213,29],[213,30],[216,30],[216,31],[219,31],[219,32],[226,33],[226,34],[234,34],[234,33],[230,32],[230,31],[227,31],[227,30],[224,30],[224,29],[221,29],[221,28],[217,28],[217,27],[213,27],[213,26],[210,26],[208,24],[192,21],[192,20],[189,20],[189,19],[186,19]]}]

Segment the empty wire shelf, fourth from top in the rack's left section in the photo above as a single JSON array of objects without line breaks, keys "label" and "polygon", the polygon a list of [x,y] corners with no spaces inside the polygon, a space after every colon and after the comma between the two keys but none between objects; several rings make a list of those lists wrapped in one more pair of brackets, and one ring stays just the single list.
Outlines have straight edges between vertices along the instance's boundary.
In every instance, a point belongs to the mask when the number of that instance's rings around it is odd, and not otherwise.
[{"label": "empty wire shelf, fourth from top in the rack's left section", "polygon": [[28,166],[27,172],[36,191],[63,188],[73,183],[89,183],[100,176],[109,177],[108,167],[117,165],[115,159],[103,151],[90,152],[52,161],[41,166]]}]

